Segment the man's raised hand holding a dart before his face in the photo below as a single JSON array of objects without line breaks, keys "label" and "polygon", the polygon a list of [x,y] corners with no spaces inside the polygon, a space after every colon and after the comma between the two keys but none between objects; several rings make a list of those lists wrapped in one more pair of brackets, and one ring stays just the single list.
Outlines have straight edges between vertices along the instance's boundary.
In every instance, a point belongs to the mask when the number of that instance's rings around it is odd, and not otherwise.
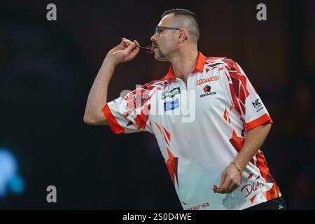
[{"label": "man's raised hand holding a dart before his face", "polygon": [[139,46],[136,40],[132,42],[126,38],[122,38],[121,43],[108,52],[104,61],[114,66],[130,61],[139,53],[140,48],[137,48],[136,45]]}]

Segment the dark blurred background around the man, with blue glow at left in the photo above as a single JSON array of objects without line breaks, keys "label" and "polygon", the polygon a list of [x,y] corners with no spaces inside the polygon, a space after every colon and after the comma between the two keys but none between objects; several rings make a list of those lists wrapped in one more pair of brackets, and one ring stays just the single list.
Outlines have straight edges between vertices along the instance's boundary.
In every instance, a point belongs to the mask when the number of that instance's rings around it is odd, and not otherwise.
[{"label": "dark blurred background around the man, with blue glow at left", "polygon": [[[48,3],[57,21],[46,20]],[[267,21],[256,19],[258,3]],[[288,209],[315,209],[311,0],[1,2],[1,209],[181,209],[153,135],[83,123],[106,53],[123,36],[149,45],[170,8],[198,15],[204,55],[244,69],[274,120],[262,151]],[[116,69],[108,99],[168,68],[139,52]],[[57,203],[46,202],[48,186],[56,186]]]}]

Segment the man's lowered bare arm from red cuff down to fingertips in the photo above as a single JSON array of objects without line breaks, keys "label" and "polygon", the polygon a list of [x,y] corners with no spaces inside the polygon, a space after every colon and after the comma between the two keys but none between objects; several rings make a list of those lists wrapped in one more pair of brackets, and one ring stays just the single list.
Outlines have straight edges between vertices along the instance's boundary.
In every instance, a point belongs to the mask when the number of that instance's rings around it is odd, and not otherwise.
[{"label": "man's lowered bare arm from red cuff down to fingertips", "polygon": [[[244,144],[239,152],[239,155],[232,162],[237,162],[241,173],[248,165],[248,162],[253,158],[253,156],[258,152],[258,149],[262,146],[265,141],[267,134],[271,128],[271,123],[265,123],[258,127],[249,130],[246,135]],[[221,176],[220,189],[218,193],[231,193],[241,184],[241,176],[235,165],[229,165],[223,171]]]}]

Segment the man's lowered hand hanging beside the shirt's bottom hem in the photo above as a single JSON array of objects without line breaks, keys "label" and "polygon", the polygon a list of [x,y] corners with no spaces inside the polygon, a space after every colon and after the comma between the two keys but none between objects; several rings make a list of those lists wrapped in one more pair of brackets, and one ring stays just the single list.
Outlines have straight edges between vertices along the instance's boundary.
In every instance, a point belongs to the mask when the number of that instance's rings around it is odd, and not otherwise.
[{"label": "man's lowered hand hanging beside the shirt's bottom hem", "polygon": [[241,184],[241,175],[235,165],[228,165],[222,173],[220,188],[217,193],[232,193]]}]

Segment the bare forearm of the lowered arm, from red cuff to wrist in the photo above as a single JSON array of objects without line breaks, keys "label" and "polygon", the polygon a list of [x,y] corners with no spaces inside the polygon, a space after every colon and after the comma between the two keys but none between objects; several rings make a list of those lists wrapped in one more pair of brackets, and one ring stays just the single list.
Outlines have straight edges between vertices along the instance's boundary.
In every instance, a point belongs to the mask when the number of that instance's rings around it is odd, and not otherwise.
[{"label": "bare forearm of the lowered arm, from red cuff to wrist", "polygon": [[248,162],[262,146],[269,133],[271,125],[271,123],[265,123],[247,132],[244,145],[241,147],[241,151],[239,152],[239,155],[237,155],[237,158],[233,161],[239,164],[242,172],[248,165]]}]

